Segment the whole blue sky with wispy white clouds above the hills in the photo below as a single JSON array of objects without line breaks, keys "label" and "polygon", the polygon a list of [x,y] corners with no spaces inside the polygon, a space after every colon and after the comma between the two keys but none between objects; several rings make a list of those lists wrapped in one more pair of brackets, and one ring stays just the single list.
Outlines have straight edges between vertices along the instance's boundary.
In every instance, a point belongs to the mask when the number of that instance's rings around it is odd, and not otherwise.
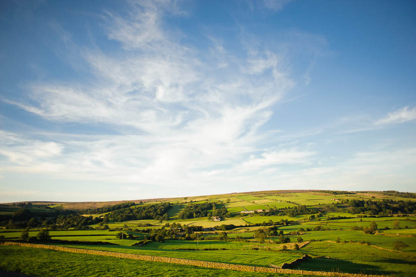
[{"label": "whole blue sky with wispy white clouds above the hills", "polygon": [[416,192],[414,1],[1,1],[0,202]]}]

